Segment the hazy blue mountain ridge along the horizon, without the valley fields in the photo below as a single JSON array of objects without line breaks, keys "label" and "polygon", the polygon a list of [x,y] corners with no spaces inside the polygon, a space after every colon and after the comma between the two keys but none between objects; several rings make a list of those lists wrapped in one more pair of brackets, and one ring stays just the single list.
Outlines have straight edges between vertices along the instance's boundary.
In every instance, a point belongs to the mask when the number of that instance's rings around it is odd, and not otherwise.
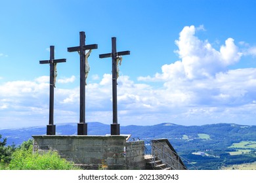
[{"label": "hazy blue mountain ridge along the horizon, without the valley fields", "polygon": [[[177,144],[177,142],[188,142],[192,139],[200,139],[198,134],[209,135],[209,139],[216,142],[222,141],[229,144],[240,141],[256,141],[256,125],[237,124],[210,124],[184,126],[170,123],[158,125],[127,125],[121,126],[121,134],[131,134],[131,138],[150,141],[150,139],[166,138]],[[2,138],[7,137],[7,144],[19,145],[23,141],[32,139],[32,135],[45,135],[46,125],[42,127],[24,127],[17,129],[0,129]],[[56,135],[76,135],[77,124],[57,124]],[[110,134],[110,125],[99,122],[88,123],[88,135]],[[202,137],[202,136],[201,136]],[[202,140],[202,138],[201,138]],[[229,145],[226,144],[226,145]],[[230,144],[230,145],[231,145]],[[180,146],[180,143],[179,143]]]}]

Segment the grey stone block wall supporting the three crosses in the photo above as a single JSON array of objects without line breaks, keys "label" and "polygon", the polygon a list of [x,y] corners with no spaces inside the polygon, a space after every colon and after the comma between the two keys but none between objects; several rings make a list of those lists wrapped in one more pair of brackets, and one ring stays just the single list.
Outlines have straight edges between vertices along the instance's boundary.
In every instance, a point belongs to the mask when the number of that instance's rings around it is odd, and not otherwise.
[{"label": "grey stone block wall supporting the three crosses", "polygon": [[84,169],[144,167],[144,142],[126,142],[125,136],[37,135],[33,139],[33,152],[56,151]]}]

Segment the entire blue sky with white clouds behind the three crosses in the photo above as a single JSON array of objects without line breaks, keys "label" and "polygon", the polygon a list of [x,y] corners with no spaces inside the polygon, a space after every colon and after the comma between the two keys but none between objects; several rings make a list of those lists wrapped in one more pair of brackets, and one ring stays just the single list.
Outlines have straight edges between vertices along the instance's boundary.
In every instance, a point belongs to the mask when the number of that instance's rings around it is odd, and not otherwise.
[{"label": "entire blue sky with white clouds behind the three crosses", "polygon": [[89,58],[87,122],[112,123],[111,59],[121,125],[255,125],[256,1],[1,1],[0,128],[47,125],[49,46],[57,65],[54,123],[79,122],[79,31]]}]

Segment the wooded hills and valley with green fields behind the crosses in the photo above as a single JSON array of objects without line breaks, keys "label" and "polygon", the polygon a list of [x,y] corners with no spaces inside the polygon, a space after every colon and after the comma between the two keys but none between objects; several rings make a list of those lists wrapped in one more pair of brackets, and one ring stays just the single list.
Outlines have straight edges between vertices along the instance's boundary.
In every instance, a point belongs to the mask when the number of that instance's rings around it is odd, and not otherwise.
[{"label": "wooded hills and valley with green fields behind the crosses", "polygon": [[[121,126],[121,134],[131,134],[130,140],[168,139],[177,153],[198,169],[223,169],[232,165],[256,162],[256,125],[211,124],[184,126],[163,123],[158,125]],[[45,135],[43,127],[0,129],[7,145],[22,144],[32,135]],[[56,135],[76,135],[77,124],[57,124]],[[110,134],[110,125],[88,123],[88,135]],[[0,139],[3,141],[3,139]],[[150,152],[150,146],[146,145]],[[254,165],[254,164],[253,164]],[[244,166],[244,164],[243,164]],[[251,169],[251,168],[250,168]],[[256,169],[256,167],[255,167]]]}]

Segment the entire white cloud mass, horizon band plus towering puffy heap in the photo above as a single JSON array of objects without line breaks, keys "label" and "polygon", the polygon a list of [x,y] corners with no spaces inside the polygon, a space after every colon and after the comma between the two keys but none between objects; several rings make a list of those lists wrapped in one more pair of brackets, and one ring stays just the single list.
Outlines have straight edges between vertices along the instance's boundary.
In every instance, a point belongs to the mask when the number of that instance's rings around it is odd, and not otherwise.
[{"label": "entire white cloud mass, horizon band plus towering puffy heap", "polygon": [[[161,73],[129,76],[117,80],[118,120],[121,125],[152,125],[173,122],[200,125],[219,122],[255,124],[256,69],[228,69],[244,56],[228,38],[219,50],[196,37],[202,26],[184,27],[176,53],[180,60],[165,64]],[[240,46],[245,46],[240,42]],[[246,50],[253,47],[245,46]],[[241,54],[243,53],[243,54]],[[253,53],[253,51],[251,51]],[[253,55],[253,54],[251,54]],[[112,75],[93,76],[86,90],[87,122],[112,123]],[[74,82],[75,77],[59,79]],[[158,82],[158,87],[151,83]],[[79,86],[55,88],[54,119],[79,122]],[[6,82],[0,85],[1,122],[38,122],[46,125],[49,112],[49,76],[32,81]],[[3,117],[7,116],[8,117]],[[4,119],[3,119],[4,118]]]}]

